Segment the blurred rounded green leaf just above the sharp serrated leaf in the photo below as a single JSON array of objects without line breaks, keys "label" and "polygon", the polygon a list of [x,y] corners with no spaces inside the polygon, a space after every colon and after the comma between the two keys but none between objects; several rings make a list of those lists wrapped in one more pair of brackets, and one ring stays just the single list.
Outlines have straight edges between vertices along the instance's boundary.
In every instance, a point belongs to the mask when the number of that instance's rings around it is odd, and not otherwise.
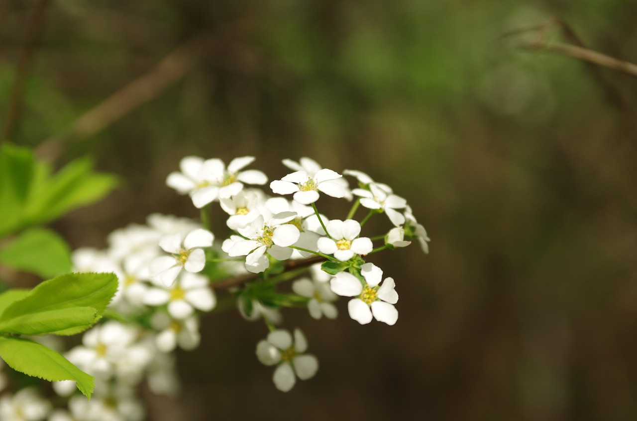
[{"label": "blurred rounded green leaf just above the sharp serrated leaf", "polygon": [[0,263],[50,278],[71,270],[71,249],[54,231],[32,228],[0,249]]}]

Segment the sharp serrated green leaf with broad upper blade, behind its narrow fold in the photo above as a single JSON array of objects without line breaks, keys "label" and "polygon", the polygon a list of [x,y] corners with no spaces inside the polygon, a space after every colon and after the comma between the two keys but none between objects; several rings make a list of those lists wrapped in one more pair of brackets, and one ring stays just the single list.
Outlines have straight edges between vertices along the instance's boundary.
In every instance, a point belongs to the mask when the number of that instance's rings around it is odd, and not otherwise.
[{"label": "sharp serrated green leaf with broad upper blade, behind its narrow fold", "polygon": [[66,273],[42,282],[24,298],[13,301],[0,315],[0,323],[17,317],[53,310],[90,307],[94,319],[78,326],[66,326],[50,331],[54,335],[75,335],[99,320],[117,291],[114,273]]}]

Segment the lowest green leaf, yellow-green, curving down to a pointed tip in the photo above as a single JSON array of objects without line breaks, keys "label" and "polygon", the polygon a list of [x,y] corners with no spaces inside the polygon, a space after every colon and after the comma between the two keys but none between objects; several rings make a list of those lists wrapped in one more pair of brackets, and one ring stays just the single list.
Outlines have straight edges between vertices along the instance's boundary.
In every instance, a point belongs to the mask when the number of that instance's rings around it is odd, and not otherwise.
[{"label": "lowest green leaf, yellow-green, curving down to a pointed tip", "polygon": [[95,379],[71,364],[54,350],[22,338],[0,337],[0,357],[15,371],[49,382],[75,380],[78,389],[90,399]]}]

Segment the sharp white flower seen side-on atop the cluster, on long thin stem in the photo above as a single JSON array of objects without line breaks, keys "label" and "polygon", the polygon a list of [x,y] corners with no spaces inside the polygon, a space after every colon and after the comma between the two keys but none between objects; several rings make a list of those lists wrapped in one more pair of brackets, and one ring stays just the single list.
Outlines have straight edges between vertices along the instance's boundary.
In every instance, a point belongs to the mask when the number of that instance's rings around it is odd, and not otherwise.
[{"label": "sharp white flower seen side-on atop the cluster, on long thin stem", "polygon": [[314,176],[309,176],[307,172],[300,170],[292,172],[280,180],[270,183],[272,191],[279,195],[290,195],[294,193],[294,200],[309,205],[318,200],[318,191],[331,197],[345,197],[345,189],[334,180],[343,176],[333,170],[322,169]]}]

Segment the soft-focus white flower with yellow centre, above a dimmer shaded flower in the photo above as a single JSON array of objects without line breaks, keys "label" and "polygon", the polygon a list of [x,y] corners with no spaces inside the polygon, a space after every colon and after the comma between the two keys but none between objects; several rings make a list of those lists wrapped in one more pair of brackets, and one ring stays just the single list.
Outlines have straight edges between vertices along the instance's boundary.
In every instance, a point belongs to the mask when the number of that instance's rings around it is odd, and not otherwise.
[{"label": "soft-focus white flower with yellow centre, above a dimmer shaded flower", "polygon": [[208,286],[208,278],[196,273],[183,273],[180,280],[169,289],[150,288],[143,298],[146,305],[168,304],[168,313],[174,319],[183,320],[194,309],[209,312],[216,304],[215,294]]}]

